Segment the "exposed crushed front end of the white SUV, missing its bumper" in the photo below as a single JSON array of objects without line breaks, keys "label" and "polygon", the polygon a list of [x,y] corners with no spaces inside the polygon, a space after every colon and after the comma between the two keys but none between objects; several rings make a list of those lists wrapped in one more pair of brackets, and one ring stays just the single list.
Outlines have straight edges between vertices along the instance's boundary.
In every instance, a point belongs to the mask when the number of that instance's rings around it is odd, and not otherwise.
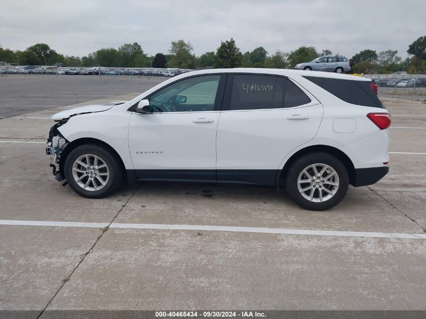
[{"label": "exposed crushed front end of the white SUV, missing its bumper", "polygon": [[46,154],[50,155],[50,166],[53,169],[53,175],[56,180],[62,182],[63,185],[67,184],[65,176],[59,171],[60,155],[68,145],[68,141],[57,130],[59,126],[65,124],[67,120],[60,120],[55,123],[49,131],[49,138],[47,139]]}]

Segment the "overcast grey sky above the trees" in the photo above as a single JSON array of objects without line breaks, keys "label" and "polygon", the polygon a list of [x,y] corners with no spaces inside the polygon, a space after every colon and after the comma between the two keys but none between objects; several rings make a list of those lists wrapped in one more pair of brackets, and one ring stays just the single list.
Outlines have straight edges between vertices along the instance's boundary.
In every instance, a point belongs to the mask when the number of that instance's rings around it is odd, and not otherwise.
[{"label": "overcast grey sky above the trees", "polygon": [[200,55],[232,37],[242,52],[307,45],[348,57],[392,48],[405,57],[426,35],[425,0],[0,0],[0,12],[4,48],[43,42],[79,56],[129,42],[167,53],[178,39]]}]

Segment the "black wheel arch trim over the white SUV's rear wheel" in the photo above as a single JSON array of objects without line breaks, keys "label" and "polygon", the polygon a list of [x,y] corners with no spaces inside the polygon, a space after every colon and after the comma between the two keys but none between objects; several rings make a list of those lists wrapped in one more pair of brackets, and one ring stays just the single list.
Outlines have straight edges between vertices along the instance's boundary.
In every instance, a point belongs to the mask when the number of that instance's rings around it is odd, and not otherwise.
[{"label": "black wheel arch trim over the white SUV's rear wheel", "polygon": [[288,169],[291,167],[291,165],[296,161],[298,158],[300,158],[303,155],[314,153],[314,152],[323,152],[323,153],[329,153],[334,156],[336,156],[339,160],[342,161],[343,165],[345,165],[348,175],[349,175],[349,183],[353,184],[355,182],[355,166],[353,165],[350,158],[341,150],[329,146],[329,145],[312,145],[308,146],[306,148],[303,148],[301,150],[298,150],[293,155],[290,156],[290,158],[285,162],[281,174],[277,174],[277,185],[279,184],[280,178],[286,178]]}]

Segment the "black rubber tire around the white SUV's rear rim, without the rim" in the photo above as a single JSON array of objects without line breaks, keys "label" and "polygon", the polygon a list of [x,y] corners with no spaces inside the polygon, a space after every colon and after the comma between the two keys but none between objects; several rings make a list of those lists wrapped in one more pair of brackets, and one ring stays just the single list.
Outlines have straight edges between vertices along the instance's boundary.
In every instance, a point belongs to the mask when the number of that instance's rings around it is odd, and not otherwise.
[{"label": "black rubber tire around the white SUV's rear rim, without the rim", "polygon": [[[338,183],[335,182],[336,184],[338,184],[337,191],[330,199],[325,200],[324,202],[312,202],[309,199],[306,199],[305,197],[303,197],[302,193],[298,189],[299,184],[301,185],[301,187],[310,185],[309,183],[306,183],[306,184],[298,183],[299,174],[302,174],[302,171],[308,166],[317,164],[317,163],[321,163],[321,164],[325,164],[329,166],[335,171],[335,173],[338,176]],[[325,171],[322,176],[325,176],[326,172],[327,171]],[[303,178],[303,180],[305,179]],[[321,181],[322,180],[320,179],[319,182],[321,183]],[[318,152],[318,153],[310,153],[307,155],[303,155],[302,157],[297,159],[294,163],[292,163],[292,165],[287,170],[285,182],[286,182],[287,193],[290,195],[292,200],[297,205],[311,211],[324,211],[336,206],[345,197],[348,186],[349,186],[349,176],[348,176],[348,172],[345,165],[336,156],[331,155],[329,153]],[[315,183],[317,182],[318,181],[315,179]],[[315,187],[315,183],[312,183],[314,185],[313,187]],[[326,184],[319,184],[316,186],[317,189],[315,190],[315,192],[317,194],[318,192],[322,192],[322,194],[325,194],[326,196],[328,196],[328,194],[325,193],[324,188],[320,190],[321,187],[325,187],[325,186],[332,187]],[[307,192],[310,192],[311,189],[307,190],[305,194],[307,194]],[[319,197],[319,194],[318,194],[318,197]]]}]

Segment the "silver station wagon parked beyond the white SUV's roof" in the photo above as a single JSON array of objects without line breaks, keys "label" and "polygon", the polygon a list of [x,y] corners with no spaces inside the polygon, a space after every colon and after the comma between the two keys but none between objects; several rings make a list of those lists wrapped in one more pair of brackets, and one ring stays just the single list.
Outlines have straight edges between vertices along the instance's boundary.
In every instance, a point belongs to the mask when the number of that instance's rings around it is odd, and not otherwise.
[{"label": "silver station wagon parked beyond the white SUV's roof", "polygon": [[320,56],[311,62],[303,62],[294,66],[295,70],[324,71],[343,73],[351,70],[349,59],[345,56]]}]

